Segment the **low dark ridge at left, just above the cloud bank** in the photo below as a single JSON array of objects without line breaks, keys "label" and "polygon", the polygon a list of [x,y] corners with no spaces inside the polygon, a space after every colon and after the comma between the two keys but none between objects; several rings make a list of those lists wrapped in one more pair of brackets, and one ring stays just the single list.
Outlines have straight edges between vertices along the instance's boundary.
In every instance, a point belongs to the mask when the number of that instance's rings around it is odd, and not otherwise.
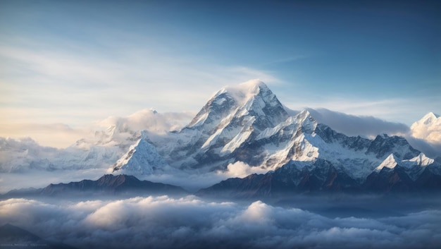
[{"label": "low dark ridge at left, just above the cloud bank", "polygon": [[11,190],[3,198],[27,196],[88,196],[88,195],[186,195],[187,191],[169,184],[140,181],[135,176],[112,174],[101,176],[97,181],[82,180],[70,183],[49,184],[46,188]]}]

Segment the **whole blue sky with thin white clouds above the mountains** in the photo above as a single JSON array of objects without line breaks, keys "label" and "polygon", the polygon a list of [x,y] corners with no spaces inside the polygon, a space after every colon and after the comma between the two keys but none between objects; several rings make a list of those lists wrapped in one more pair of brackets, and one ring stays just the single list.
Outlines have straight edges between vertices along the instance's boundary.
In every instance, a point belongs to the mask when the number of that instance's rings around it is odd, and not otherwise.
[{"label": "whole blue sky with thin white clouds above the mountains", "polygon": [[0,0],[6,131],[198,111],[224,85],[253,78],[292,109],[408,125],[441,114],[440,4]]}]

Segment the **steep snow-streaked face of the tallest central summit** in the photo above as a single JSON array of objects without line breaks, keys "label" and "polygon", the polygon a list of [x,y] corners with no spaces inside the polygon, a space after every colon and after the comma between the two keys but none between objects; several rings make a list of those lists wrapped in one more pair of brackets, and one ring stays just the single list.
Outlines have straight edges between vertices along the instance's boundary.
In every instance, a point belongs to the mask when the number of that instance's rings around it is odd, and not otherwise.
[{"label": "steep snow-streaked face of the tallest central summit", "polygon": [[222,167],[262,130],[287,118],[273,92],[261,81],[251,80],[217,92],[188,126],[172,135],[175,145],[155,144],[170,165]]}]

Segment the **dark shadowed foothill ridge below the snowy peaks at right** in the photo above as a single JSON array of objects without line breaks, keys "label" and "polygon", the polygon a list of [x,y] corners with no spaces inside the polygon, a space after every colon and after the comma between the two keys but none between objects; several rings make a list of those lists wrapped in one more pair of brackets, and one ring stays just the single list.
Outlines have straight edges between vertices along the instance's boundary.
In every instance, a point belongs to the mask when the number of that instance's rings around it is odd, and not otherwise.
[{"label": "dark shadowed foothill ridge below the snowy peaks at right", "polygon": [[289,198],[305,193],[435,193],[441,191],[439,165],[424,167],[412,179],[404,166],[374,171],[366,181],[359,182],[338,171],[331,162],[318,159],[307,165],[290,162],[267,174],[252,174],[245,178],[230,178],[196,194],[210,198]]}]

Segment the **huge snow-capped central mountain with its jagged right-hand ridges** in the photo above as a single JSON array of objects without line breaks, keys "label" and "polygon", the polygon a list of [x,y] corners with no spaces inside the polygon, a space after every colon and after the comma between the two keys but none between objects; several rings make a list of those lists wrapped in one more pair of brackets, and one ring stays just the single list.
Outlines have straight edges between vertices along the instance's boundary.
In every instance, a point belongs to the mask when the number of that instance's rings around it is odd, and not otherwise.
[{"label": "huge snow-capped central mountain with its jagged right-hand ridges", "polygon": [[[225,171],[242,162],[251,169],[284,171],[294,185],[276,184],[275,172],[266,177],[275,186],[302,191],[366,190],[368,176],[383,167],[392,169],[392,161],[400,165],[397,171],[405,167],[403,172],[412,182],[423,173],[412,160],[426,160],[433,164],[430,169],[438,165],[397,135],[347,136],[318,123],[308,109],[290,116],[259,80],[224,87],[181,130],[162,136],[145,133],[141,142],[118,161],[120,169],[150,173],[152,161],[189,172]],[[436,175],[437,170],[431,173]],[[270,182],[266,177],[263,180]]]}]

